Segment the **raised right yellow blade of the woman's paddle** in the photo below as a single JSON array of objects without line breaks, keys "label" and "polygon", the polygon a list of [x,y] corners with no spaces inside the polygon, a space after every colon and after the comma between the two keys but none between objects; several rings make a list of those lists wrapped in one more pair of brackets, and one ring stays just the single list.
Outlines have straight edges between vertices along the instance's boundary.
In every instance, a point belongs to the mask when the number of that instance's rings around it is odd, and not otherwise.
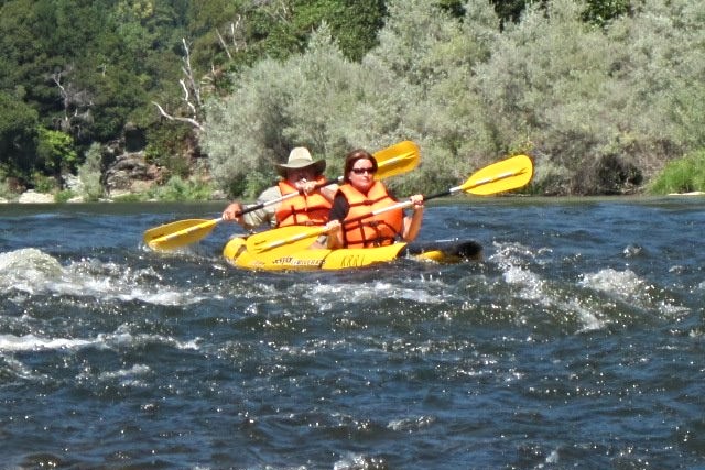
[{"label": "raised right yellow blade of the woman's paddle", "polygon": [[503,193],[527,186],[533,176],[533,162],[527,155],[516,155],[478,170],[460,189],[479,196]]}]

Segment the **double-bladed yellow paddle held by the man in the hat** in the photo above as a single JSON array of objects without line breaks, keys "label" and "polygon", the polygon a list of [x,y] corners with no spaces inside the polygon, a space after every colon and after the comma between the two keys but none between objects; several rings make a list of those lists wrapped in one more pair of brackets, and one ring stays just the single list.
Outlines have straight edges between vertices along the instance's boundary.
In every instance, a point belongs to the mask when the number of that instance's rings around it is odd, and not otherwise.
[{"label": "double-bladed yellow paddle held by the man in the hat", "polygon": [[[380,150],[375,153],[379,170],[376,178],[382,179],[390,176],[410,172],[419,165],[419,147],[412,141],[403,141]],[[318,188],[338,183],[340,178],[328,179],[319,185]],[[296,196],[299,193],[291,193],[280,198],[249,206],[240,212],[240,215],[262,209],[267,206],[282,203],[289,198]],[[224,221],[223,217],[217,219],[186,219],[175,222],[165,223],[144,232],[142,237],[144,244],[153,250],[170,251],[195,243],[204,237],[208,236],[215,226]]]}]

